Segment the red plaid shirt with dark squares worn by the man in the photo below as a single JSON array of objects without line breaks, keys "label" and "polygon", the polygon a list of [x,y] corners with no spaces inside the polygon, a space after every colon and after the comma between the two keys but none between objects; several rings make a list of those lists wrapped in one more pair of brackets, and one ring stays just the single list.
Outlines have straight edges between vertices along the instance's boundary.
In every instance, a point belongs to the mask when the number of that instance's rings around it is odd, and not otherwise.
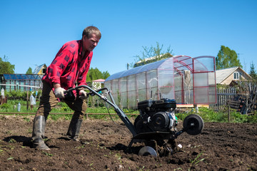
[{"label": "red plaid shirt with dark squares worn by the man", "polygon": [[53,88],[53,83],[61,84],[64,89],[86,85],[86,74],[89,71],[93,51],[87,51],[82,57],[82,41],[69,41],[61,47],[54,61],[47,68],[42,78]]}]

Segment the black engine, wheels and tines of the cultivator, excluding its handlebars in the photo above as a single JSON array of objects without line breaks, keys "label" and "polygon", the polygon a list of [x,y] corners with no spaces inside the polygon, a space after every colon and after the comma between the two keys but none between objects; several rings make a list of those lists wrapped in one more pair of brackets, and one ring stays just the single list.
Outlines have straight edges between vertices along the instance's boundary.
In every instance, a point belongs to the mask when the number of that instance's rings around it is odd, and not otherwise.
[{"label": "black engine, wheels and tines of the cultivator, excluding its handlebars", "polygon": [[177,131],[176,101],[173,99],[144,100],[138,103],[138,110],[140,115],[134,122],[137,135],[133,137],[131,144],[138,140],[144,142],[146,146],[141,148],[139,155],[173,154],[178,135],[185,131],[189,135],[198,135],[203,129],[200,116],[188,115],[183,121],[183,129]]}]

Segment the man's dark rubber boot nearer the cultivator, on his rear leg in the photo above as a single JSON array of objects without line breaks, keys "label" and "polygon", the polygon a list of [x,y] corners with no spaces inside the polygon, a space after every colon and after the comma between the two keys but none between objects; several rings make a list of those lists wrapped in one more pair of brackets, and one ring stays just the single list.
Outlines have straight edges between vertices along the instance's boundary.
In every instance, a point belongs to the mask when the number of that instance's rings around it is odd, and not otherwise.
[{"label": "man's dark rubber boot nearer the cultivator, on his rear leg", "polygon": [[79,141],[79,131],[81,128],[82,119],[71,119],[69,129],[67,132],[67,137],[71,140]]}]

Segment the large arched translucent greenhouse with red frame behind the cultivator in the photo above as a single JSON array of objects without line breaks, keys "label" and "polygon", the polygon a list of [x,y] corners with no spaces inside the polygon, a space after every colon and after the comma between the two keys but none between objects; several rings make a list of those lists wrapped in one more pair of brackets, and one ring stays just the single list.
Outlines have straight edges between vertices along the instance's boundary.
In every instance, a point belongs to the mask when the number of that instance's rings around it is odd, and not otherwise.
[{"label": "large arched translucent greenhouse with red frame behind the cultivator", "polygon": [[121,108],[142,100],[175,99],[178,104],[216,103],[215,57],[173,56],[114,73],[104,82]]}]

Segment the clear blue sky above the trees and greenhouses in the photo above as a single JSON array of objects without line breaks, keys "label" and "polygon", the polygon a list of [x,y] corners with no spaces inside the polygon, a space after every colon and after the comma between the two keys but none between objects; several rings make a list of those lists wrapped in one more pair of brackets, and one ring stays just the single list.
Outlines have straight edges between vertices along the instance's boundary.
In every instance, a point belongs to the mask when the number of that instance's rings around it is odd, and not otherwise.
[{"label": "clear blue sky above the trees and greenhouses", "polygon": [[173,55],[217,56],[221,45],[239,53],[243,69],[257,68],[256,0],[12,1],[1,0],[0,57],[15,73],[49,66],[86,26],[102,33],[91,67],[114,74],[141,56],[142,46],[163,44]]}]

